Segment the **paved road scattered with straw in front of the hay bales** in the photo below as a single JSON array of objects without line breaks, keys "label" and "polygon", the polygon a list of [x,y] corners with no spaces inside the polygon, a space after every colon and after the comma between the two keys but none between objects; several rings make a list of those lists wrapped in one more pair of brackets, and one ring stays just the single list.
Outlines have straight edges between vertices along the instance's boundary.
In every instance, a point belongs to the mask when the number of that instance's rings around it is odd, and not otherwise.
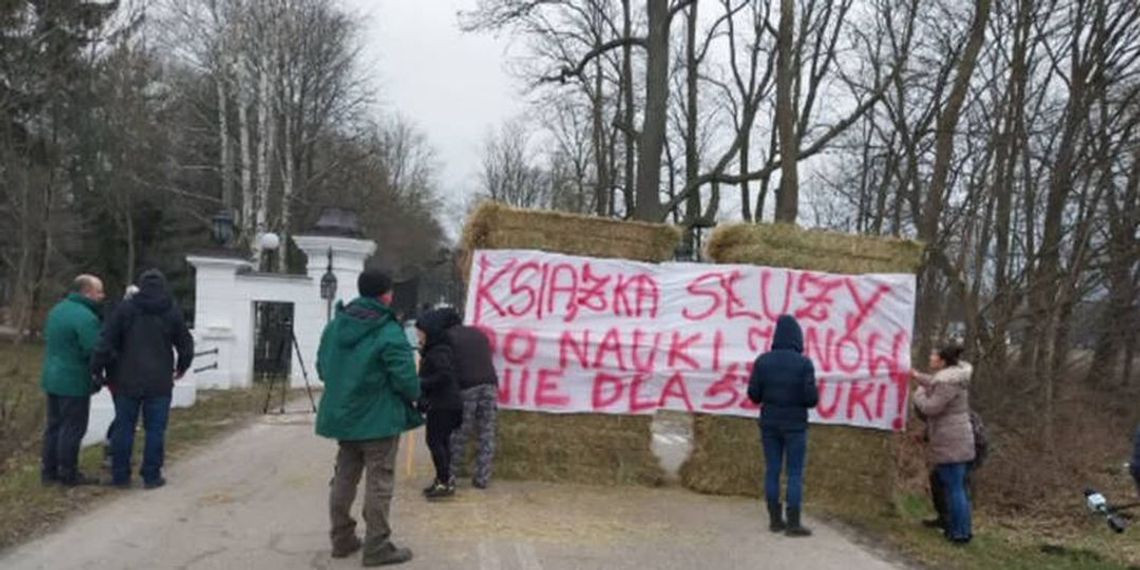
[{"label": "paved road scattered with straw in front of the hay bales", "polygon": [[[335,443],[315,437],[311,422],[266,417],[171,465],[168,487],[122,491],[57,532],[0,554],[0,568],[359,568],[359,557],[328,555]],[[397,542],[416,557],[401,568],[899,568],[819,523],[811,539],[773,536],[754,500],[675,488],[496,482],[429,504],[418,496],[431,472],[422,439],[409,458],[412,448],[405,440],[400,450],[393,524]]]}]

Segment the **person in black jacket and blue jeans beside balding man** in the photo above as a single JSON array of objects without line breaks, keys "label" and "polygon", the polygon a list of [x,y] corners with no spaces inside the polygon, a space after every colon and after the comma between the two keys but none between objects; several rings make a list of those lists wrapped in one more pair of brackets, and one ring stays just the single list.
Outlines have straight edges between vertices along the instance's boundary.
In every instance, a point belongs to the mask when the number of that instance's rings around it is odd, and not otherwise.
[{"label": "person in black jacket and blue jeans beside balding man", "polygon": [[146,443],[139,474],[145,487],[154,489],[166,483],[162,464],[170,400],[174,381],[181,380],[194,359],[194,339],[161,271],[145,271],[138,285],[139,292],[120,303],[104,326],[91,374],[114,386],[111,483],[130,487],[135,426],[141,410]]}]

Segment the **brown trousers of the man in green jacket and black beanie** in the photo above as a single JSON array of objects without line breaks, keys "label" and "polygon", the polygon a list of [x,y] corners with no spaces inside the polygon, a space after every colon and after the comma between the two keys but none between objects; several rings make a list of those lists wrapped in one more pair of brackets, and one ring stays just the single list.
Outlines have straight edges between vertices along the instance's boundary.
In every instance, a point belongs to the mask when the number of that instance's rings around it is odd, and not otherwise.
[{"label": "brown trousers of the man in green jacket and black beanie", "polygon": [[341,441],[336,451],[336,471],[328,486],[328,516],[332,530],[328,537],[333,549],[347,549],[356,540],[356,520],[352,502],[356,500],[360,475],[367,470],[364,491],[365,555],[392,548],[392,527],[389,514],[392,490],[396,488],[396,454],[399,435],[367,441]]}]

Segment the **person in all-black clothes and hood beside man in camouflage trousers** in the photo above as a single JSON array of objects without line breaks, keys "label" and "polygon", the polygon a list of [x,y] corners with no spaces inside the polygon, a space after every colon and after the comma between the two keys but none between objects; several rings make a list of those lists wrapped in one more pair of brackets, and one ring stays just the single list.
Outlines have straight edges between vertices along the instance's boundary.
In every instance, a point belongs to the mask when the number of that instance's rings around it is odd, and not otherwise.
[{"label": "person in all-black clothes and hood beside man in camouflage trousers", "polygon": [[451,475],[451,433],[463,423],[463,398],[455,370],[455,353],[447,331],[459,324],[455,311],[433,310],[416,320],[420,335],[422,405],[427,409],[427,448],[435,464],[435,480],[424,489],[427,498],[455,495]]}]

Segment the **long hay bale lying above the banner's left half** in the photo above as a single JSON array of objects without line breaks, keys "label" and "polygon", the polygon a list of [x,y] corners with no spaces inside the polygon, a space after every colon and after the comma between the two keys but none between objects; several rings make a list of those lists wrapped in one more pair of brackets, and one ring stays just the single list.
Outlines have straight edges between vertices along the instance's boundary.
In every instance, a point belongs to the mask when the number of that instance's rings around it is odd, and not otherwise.
[{"label": "long hay bale lying above the banner's left half", "polygon": [[463,228],[459,258],[464,280],[475,250],[542,250],[568,255],[665,261],[681,231],[673,226],[594,218],[564,212],[520,210],[484,202]]}]

